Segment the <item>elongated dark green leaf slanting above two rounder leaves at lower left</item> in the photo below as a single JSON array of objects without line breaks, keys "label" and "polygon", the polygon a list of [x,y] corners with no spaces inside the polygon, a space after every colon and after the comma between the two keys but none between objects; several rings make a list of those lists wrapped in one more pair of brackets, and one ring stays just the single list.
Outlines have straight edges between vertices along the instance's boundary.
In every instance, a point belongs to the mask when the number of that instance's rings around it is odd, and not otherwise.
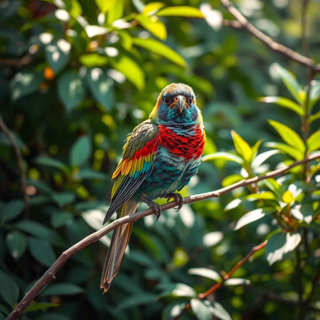
[{"label": "elongated dark green leaf slanting above two rounder leaves at lower left", "polygon": [[15,224],[15,227],[33,236],[45,239],[53,245],[64,245],[64,241],[57,231],[52,230],[37,221],[21,220]]}]

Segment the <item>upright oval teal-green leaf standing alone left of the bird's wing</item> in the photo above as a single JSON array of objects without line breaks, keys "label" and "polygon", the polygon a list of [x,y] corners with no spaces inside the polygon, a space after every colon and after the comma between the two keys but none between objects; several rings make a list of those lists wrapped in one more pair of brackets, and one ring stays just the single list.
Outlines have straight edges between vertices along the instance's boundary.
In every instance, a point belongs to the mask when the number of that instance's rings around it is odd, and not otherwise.
[{"label": "upright oval teal-green leaf standing alone left of the bird's wing", "polygon": [[92,145],[90,137],[84,135],[78,138],[71,146],[69,161],[71,165],[80,166],[86,163],[91,155]]}]

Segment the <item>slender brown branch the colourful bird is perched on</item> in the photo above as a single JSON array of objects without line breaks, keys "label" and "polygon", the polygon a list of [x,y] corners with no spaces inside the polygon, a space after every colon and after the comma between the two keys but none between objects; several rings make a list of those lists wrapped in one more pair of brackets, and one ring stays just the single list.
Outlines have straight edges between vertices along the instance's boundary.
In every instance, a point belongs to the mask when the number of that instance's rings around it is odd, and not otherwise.
[{"label": "slender brown branch the colourful bird is perched on", "polygon": [[[286,172],[287,170],[299,165],[299,164],[304,164],[309,161],[315,160],[316,158],[320,158],[320,152],[317,152],[316,154],[312,156],[308,156],[307,158],[301,160],[301,161],[295,161],[290,165],[285,165],[281,167],[280,169],[276,169],[274,171],[268,172],[264,175],[261,176],[256,176],[251,179],[244,179],[242,181],[236,182],[228,187],[221,188],[216,191],[211,191],[207,193],[202,193],[194,196],[188,196],[184,198],[184,203],[193,203],[199,200],[203,199],[208,199],[208,198],[213,198],[213,197],[218,197],[222,194],[228,193],[231,190],[234,190],[239,187],[251,185],[252,183],[256,183],[260,180],[263,179],[268,179],[271,177],[275,177],[279,174],[282,174]],[[168,209],[171,209],[178,205],[177,201],[171,201],[169,203],[161,205],[161,210],[165,211]],[[151,215],[154,213],[153,209],[146,209],[142,210],[133,214],[130,214],[128,216],[122,217],[120,219],[117,219],[108,226],[92,233],[91,235],[85,237],[69,249],[67,249],[65,252],[61,254],[61,256],[53,263],[53,265],[44,273],[44,275],[34,284],[34,286],[30,289],[30,291],[25,295],[25,297],[19,302],[19,304],[14,308],[14,310],[11,312],[11,314],[8,316],[7,320],[12,320],[12,319],[18,319],[20,314],[23,312],[25,308],[27,308],[28,304],[33,300],[33,298],[36,296],[36,294],[49,282],[55,279],[55,274],[60,270],[60,268],[66,263],[66,261],[73,256],[76,252],[80,251],[84,247],[86,247],[88,244],[91,244],[93,242],[98,241],[100,238],[105,236],[107,233],[110,231],[114,230],[115,228],[125,224],[129,223],[132,221],[136,221],[138,219],[141,219],[143,217],[146,217],[148,215]],[[245,262],[245,261],[244,261]],[[232,270],[231,270],[232,271]]]}]

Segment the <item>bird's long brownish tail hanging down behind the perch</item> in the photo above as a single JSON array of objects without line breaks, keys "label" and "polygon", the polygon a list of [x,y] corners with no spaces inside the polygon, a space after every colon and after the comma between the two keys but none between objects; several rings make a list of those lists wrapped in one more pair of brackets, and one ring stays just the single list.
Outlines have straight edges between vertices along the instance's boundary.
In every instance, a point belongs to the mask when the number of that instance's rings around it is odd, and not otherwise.
[{"label": "bird's long brownish tail hanging down behind the perch", "polygon": [[[134,201],[127,201],[117,210],[117,219],[137,211],[139,204]],[[113,231],[106,261],[104,263],[101,289],[107,292],[112,279],[119,271],[124,251],[130,238],[133,222],[123,224]]]}]

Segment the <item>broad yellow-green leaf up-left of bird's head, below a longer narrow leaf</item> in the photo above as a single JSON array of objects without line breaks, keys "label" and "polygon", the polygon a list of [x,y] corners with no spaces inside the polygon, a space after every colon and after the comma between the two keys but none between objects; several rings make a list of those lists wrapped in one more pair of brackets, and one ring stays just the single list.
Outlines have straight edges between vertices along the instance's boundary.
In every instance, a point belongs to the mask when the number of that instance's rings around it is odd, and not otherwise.
[{"label": "broad yellow-green leaf up-left of bird's head, below a longer narrow leaf", "polygon": [[111,64],[115,69],[122,72],[139,90],[144,88],[144,72],[134,60],[128,56],[121,55],[112,59]]}]

